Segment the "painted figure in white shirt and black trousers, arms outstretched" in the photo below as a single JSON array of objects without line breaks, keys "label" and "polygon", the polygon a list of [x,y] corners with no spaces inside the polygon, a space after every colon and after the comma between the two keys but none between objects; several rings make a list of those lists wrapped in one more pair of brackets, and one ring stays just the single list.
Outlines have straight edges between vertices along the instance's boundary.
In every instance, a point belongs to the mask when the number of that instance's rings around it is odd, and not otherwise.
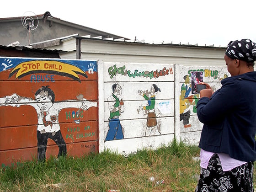
[{"label": "painted figure in white shirt and black trousers, arms outstretched", "polygon": [[[52,139],[59,146],[59,156],[67,154],[66,143],[60,132],[59,112],[64,108],[80,108],[88,110],[97,107],[97,102],[81,100],[67,100],[65,102],[54,102],[55,94],[48,86],[42,86],[35,93],[35,100],[16,93],[11,96],[0,98],[4,106],[20,107],[30,105],[35,108],[38,117],[37,123],[37,161],[45,161],[48,139]],[[3,105],[2,105],[3,106]]]}]

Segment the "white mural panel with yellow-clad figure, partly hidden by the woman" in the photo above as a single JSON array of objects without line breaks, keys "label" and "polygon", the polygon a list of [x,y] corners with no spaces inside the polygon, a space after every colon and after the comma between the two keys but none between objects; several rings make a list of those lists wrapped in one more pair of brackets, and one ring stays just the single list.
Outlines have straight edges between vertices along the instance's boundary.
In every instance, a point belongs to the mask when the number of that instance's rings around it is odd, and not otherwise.
[{"label": "white mural panel with yellow-clad figure, partly hidden by the woman", "polygon": [[180,133],[202,130],[202,123],[197,118],[197,91],[199,82],[206,82],[213,91],[221,87],[220,81],[228,77],[227,69],[210,66],[180,66]]}]

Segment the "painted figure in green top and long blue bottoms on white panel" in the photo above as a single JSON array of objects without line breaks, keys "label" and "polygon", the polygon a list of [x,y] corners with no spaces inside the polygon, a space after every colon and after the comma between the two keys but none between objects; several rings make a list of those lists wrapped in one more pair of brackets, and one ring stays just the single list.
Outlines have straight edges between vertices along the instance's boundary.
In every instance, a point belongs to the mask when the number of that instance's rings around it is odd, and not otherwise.
[{"label": "painted figure in green top and long blue bottoms on white panel", "polygon": [[108,131],[106,141],[113,139],[123,139],[123,128],[120,123],[120,113],[124,112],[123,101],[119,100],[122,95],[122,87],[115,83],[112,85],[112,95],[107,98],[110,117],[108,122]]}]

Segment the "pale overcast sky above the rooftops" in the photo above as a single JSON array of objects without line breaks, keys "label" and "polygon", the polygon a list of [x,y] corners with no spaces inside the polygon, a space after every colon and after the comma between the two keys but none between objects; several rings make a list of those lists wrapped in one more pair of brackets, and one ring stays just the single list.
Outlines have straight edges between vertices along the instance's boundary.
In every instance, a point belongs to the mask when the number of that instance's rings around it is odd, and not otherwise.
[{"label": "pale overcast sky above the rooftops", "polygon": [[27,11],[145,43],[256,42],[256,0],[2,0],[0,18]]}]

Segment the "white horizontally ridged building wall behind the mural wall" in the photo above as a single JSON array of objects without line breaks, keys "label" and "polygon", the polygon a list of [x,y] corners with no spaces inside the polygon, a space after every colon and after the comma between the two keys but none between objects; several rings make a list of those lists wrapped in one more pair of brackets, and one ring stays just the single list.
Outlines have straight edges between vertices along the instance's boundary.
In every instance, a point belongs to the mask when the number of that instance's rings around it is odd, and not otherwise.
[{"label": "white horizontally ridged building wall behind the mural wall", "polygon": [[[225,66],[225,48],[155,45],[98,39],[81,39],[80,48],[81,59],[100,59],[104,62]],[[60,53],[63,59],[76,59],[75,38],[62,41],[51,49],[68,51],[68,53]]]}]

